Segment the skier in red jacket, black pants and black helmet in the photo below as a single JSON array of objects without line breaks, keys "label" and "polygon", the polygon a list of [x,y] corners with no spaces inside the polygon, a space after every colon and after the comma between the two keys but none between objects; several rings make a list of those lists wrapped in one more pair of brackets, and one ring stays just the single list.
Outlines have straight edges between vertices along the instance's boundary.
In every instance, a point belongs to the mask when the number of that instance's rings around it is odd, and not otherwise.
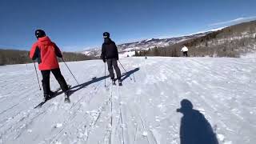
[{"label": "skier in red jacket, black pants and black helmet", "polygon": [[50,72],[57,79],[62,91],[65,93],[65,98],[68,98],[69,88],[62,76],[56,58],[56,56],[62,58],[61,50],[54,42],[50,41],[50,38],[46,36],[43,30],[35,30],[35,36],[38,38],[38,42],[35,42],[32,46],[30,58],[32,60],[38,59],[38,68],[42,73],[43,100],[47,101],[54,95],[54,92],[50,90]]}]

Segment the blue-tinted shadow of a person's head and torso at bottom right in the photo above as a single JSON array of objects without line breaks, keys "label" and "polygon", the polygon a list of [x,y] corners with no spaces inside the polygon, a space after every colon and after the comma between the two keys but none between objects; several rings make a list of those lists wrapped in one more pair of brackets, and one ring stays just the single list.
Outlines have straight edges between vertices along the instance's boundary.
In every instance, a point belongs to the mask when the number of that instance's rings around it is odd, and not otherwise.
[{"label": "blue-tinted shadow of a person's head and torso at bottom right", "polygon": [[218,144],[218,139],[210,123],[198,110],[193,109],[192,103],[183,99],[181,108],[177,112],[182,113],[180,127],[181,144]]}]

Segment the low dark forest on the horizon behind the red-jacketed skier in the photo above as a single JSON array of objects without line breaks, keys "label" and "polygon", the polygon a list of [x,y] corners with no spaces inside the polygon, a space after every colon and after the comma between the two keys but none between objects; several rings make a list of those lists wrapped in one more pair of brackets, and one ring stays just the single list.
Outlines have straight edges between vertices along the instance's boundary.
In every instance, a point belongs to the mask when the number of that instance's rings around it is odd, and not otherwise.
[{"label": "low dark forest on the horizon behind the red-jacketed skier", "polygon": [[[27,50],[0,49],[0,66],[31,63],[33,61],[29,58],[28,54],[29,51]],[[85,54],[80,53],[63,52],[62,54],[66,62],[95,59],[94,57],[86,56]],[[58,58],[58,60],[59,62],[62,62],[60,58]]]}]

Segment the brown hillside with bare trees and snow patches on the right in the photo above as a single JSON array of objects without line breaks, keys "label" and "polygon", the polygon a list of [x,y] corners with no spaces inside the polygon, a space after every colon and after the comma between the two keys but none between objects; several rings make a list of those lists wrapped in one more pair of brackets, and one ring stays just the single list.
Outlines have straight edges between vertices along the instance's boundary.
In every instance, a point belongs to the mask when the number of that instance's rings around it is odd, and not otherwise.
[{"label": "brown hillside with bare trees and snow patches on the right", "polygon": [[[200,38],[193,38],[166,46],[159,52],[170,54],[175,52],[181,56],[183,45],[189,47],[190,56],[195,57],[241,57],[246,54],[256,53],[256,21],[244,22],[229,26],[222,30],[214,31]],[[254,56],[256,57],[256,55]]]}]

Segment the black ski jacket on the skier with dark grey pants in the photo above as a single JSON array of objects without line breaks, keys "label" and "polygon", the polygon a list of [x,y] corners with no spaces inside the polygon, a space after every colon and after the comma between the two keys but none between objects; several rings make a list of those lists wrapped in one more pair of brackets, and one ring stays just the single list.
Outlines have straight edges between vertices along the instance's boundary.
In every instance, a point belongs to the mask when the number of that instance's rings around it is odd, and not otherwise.
[{"label": "black ski jacket on the skier with dark grey pants", "polygon": [[118,48],[110,38],[104,38],[104,43],[102,44],[101,58],[103,60],[110,58],[118,59]]}]

